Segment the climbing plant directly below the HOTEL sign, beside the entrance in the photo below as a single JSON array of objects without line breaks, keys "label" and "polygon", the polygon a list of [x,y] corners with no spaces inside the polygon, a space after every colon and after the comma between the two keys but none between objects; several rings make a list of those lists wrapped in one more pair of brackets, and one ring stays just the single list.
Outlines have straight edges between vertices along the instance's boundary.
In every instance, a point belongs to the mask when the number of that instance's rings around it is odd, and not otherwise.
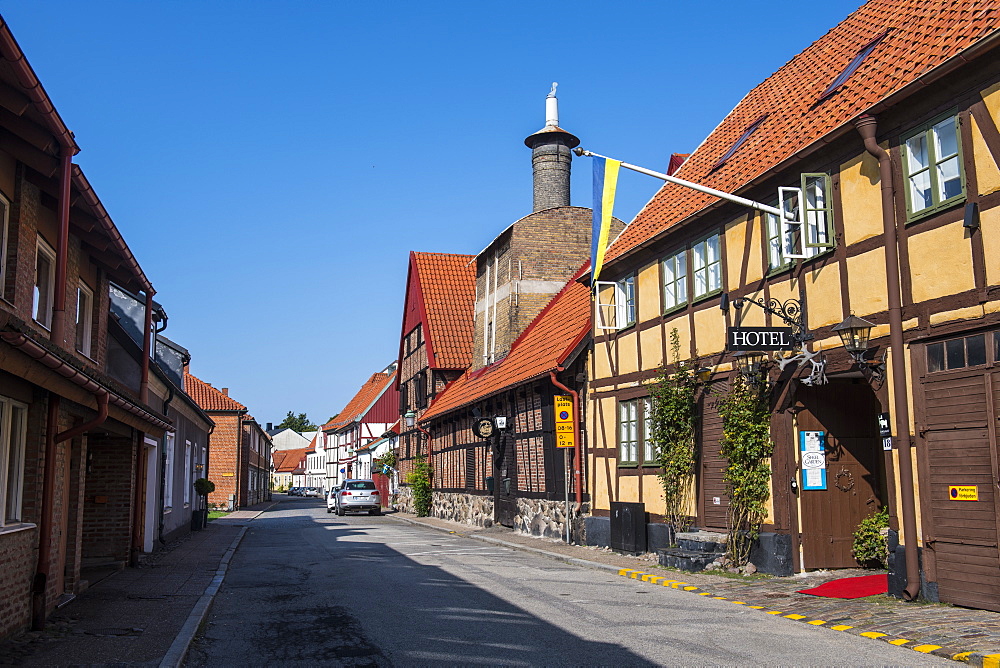
[{"label": "climbing plant directly below the HOTEL sign, beside the entrance", "polygon": [[742,566],[767,518],[771,495],[769,459],[774,444],[767,385],[751,385],[737,374],[717,405],[722,417],[721,454],[727,462],[723,479],[729,496],[728,556],[735,566]]}]

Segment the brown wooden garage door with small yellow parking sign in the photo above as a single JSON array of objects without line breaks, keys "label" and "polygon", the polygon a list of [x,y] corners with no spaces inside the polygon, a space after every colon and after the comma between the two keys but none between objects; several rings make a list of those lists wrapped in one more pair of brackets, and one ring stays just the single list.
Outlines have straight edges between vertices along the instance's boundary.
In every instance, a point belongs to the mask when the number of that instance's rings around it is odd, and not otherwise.
[{"label": "brown wooden garage door with small yellow parking sign", "polygon": [[[987,341],[994,343],[993,338],[991,333]],[[992,350],[986,365],[958,364],[946,370],[934,363],[937,369],[925,371],[917,420],[926,472],[920,493],[930,515],[930,522],[925,523],[926,542],[934,553],[938,595],[948,603],[988,610],[1000,610],[1000,372],[994,364],[998,345],[987,346]],[[926,370],[927,359],[922,362]],[[978,499],[956,499],[950,492],[952,486],[975,488]]]}]

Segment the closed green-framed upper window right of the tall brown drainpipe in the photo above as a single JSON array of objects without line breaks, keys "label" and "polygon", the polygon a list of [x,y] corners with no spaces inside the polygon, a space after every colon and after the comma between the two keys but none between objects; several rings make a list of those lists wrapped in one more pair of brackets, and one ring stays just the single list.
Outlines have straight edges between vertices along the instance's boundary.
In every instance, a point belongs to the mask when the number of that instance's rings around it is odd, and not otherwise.
[{"label": "closed green-framed upper window right of the tall brown drainpipe", "polygon": [[949,116],[903,138],[906,210],[910,219],[965,196],[958,137],[958,116]]}]

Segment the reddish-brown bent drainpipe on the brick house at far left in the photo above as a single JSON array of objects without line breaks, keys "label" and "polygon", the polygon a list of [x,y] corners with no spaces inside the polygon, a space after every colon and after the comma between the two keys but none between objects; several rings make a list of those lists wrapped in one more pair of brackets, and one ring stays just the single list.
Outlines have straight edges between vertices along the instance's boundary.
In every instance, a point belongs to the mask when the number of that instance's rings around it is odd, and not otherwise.
[{"label": "reddish-brown bent drainpipe on the brick house at far left", "polygon": [[103,389],[94,393],[97,397],[97,417],[89,422],[57,433],[59,429],[58,394],[49,393],[48,414],[45,422],[45,451],[42,454],[45,468],[42,472],[42,508],[38,522],[38,561],[35,565],[35,577],[32,582],[32,623],[35,631],[45,628],[46,599],[49,582],[49,570],[52,561],[52,515],[55,505],[56,480],[56,445],[75,438],[80,434],[99,426],[108,418],[108,393]]}]

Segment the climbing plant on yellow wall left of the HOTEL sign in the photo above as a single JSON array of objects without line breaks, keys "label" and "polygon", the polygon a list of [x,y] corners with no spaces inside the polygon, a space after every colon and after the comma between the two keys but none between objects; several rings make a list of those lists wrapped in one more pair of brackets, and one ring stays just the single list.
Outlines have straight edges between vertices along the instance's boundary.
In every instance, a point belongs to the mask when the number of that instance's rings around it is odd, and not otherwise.
[{"label": "climbing plant on yellow wall left of the HOTEL sign", "polygon": [[695,365],[680,359],[680,337],[670,332],[670,354],[673,370],[664,365],[658,381],[650,389],[653,414],[650,419],[651,437],[656,453],[658,474],[666,505],[664,517],[675,532],[691,528],[687,514],[694,490],[697,461],[697,411],[695,392],[698,377]]}]

